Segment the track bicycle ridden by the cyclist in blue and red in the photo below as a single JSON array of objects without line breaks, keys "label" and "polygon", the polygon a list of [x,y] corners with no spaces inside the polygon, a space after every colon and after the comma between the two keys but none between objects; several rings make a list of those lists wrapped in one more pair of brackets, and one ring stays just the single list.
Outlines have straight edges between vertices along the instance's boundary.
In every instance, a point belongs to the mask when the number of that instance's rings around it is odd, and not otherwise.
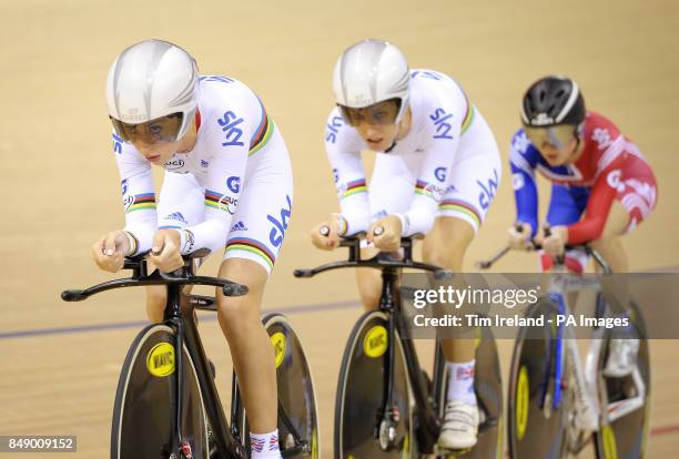
[{"label": "track bicycle ridden by the cyclist in blue and red", "polygon": [[[549,235],[547,233],[547,235]],[[534,248],[540,248],[534,244]],[[602,276],[611,275],[601,255],[588,245],[567,247],[591,256]],[[489,268],[508,247],[478,264]],[[514,345],[508,388],[509,457],[566,458],[577,456],[591,440],[598,459],[643,457],[650,422],[650,360],[641,310],[630,302],[620,314],[611,309],[600,275],[576,275],[556,257],[547,295],[531,304],[525,317],[544,317],[541,327],[523,327]],[[596,293],[594,315],[627,318],[627,327],[594,326],[585,361],[574,327],[558,317],[572,317],[571,293]],[[638,339],[632,373],[607,377],[604,368],[611,339]]]}]

